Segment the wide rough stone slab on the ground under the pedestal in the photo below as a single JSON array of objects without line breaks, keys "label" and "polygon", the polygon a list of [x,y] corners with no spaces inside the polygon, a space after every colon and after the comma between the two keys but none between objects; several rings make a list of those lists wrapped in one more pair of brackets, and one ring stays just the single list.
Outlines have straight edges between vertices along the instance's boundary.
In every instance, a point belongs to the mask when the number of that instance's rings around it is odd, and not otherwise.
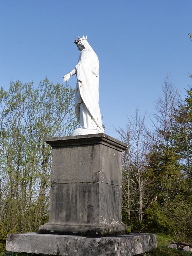
[{"label": "wide rough stone slab on the ground under the pedestal", "polygon": [[157,247],[156,234],[83,237],[39,233],[8,234],[6,250],[61,256],[132,256]]}]

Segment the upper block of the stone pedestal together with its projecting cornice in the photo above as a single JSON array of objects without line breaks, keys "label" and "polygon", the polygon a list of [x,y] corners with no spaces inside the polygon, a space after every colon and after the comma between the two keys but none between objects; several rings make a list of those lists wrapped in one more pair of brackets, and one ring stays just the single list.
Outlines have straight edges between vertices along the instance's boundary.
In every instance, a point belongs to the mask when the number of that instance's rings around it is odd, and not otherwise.
[{"label": "upper block of the stone pedestal together with its projecting cornice", "polygon": [[[106,134],[99,135],[47,139],[52,146],[51,181],[103,182],[121,186],[121,152],[127,149],[126,144],[121,142],[120,146],[120,141]],[[114,140],[112,145],[109,138]]]}]

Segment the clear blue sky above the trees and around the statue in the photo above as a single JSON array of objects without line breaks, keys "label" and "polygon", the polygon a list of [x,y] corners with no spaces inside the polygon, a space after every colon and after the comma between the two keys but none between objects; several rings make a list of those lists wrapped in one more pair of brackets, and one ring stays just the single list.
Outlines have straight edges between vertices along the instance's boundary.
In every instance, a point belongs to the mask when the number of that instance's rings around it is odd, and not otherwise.
[{"label": "clear blue sky above the trees and around the statue", "polygon": [[[77,64],[73,43],[87,35],[100,63],[106,134],[125,127],[138,106],[153,113],[166,72],[182,96],[192,84],[192,0],[1,0],[0,86],[46,76],[63,83]],[[68,81],[73,88],[76,77]]]}]

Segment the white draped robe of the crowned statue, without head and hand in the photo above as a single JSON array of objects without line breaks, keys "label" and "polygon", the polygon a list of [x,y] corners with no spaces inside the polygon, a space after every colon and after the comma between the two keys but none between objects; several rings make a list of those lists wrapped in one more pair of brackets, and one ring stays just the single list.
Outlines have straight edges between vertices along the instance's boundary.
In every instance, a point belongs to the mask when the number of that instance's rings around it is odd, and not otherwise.
[{"label": "white draped robe of the crowned statue, without head and hand", "polygon": [[[86,122],[87,127],[82,128],[97,129],[99,132],[104,132],[99,109],[99,60],[96,53],[89,49],[83,49],[75,71],[77,76],[75,91],[76,115],[80,119],[81,109],[91,115],[91,119],[88,119],[88,123]],[[81,108],[80,104],[83,104]]]}]

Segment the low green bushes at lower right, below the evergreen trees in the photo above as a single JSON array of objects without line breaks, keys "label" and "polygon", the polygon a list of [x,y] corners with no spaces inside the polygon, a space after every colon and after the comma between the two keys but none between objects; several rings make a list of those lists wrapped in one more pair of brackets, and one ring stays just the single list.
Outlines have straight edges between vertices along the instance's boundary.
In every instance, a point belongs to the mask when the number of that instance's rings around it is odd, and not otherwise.
[{"label": "low green bushes at lower right, below the evergreen trees", "polygon": [[[148,232],[172,234],[180,240],[192,237],[192,197],[179,193],[164,204],[152,202],[145,210],[144,223]],[[143,223],[143,225],[144,225]]]}]

